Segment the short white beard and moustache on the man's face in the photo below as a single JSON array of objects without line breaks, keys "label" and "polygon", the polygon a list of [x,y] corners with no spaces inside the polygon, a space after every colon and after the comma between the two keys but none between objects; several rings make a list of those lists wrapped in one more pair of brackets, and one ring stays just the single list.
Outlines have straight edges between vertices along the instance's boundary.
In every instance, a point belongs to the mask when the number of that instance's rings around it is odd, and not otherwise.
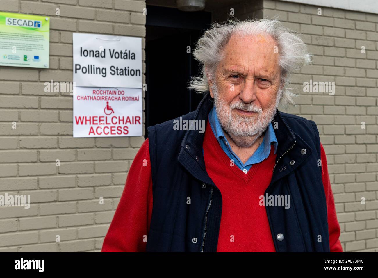
[{"label": "short white beard and moustache on the man's face", "polygon": [[[279,89],[274,102],[266,109],[262,110],[255,103],[238,103],[227,104],[222,96],[219,96],[218,88],[213,85],[214,106],[218,115],[218,120],[225,132],[232,141],[239,147],[248,148],[260,137],[268,127],[269,123],[276,115],[276,109],[279,105],[279,99],[282,90]],[[233,109],[241,109],[248,112],[257,112],[258,115],[241,116]]]}]

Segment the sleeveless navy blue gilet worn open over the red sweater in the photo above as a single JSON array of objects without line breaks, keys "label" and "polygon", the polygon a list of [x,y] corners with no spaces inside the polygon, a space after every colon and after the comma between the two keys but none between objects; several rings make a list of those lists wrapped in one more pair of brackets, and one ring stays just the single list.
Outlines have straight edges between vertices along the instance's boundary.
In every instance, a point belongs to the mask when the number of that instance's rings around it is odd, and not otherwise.
[{"label": "sleeveless navy blue gilet worn open over the red sweater", "polygon": [[[181,117],[207,123],[213,105],[207,92],[197,110]],[[148,128],[153,208],[146,251],[216,252],[222,195],[206,172],[204,133],[175,130],[179,119]],[[291,198],[290,208],[265,206],[276,252],[329,252],[316,124],[278,110],[272,124],[278,149],[265,194]]]}]

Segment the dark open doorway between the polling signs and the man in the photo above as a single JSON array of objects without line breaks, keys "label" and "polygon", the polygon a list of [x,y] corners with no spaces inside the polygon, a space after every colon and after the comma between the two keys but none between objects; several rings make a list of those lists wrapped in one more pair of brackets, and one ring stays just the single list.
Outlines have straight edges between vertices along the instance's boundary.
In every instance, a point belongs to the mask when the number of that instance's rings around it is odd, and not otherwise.
[{"label": "dark open doorway between the polling signs and the man", "polygon": [[146,133],[160,124],[195,110],[203,95],[187,89],[191,76],[199,74],[191,52],[209,28],[209,12],[182,12],[147,5],[146,22]]}]

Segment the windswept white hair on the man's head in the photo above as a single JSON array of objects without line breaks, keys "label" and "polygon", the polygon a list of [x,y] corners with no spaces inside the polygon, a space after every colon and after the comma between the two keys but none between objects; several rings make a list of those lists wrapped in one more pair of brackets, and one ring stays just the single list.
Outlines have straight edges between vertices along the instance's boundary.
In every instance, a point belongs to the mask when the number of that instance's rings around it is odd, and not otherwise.
[{"label": "windswept white hair on the man's head", "polygon": [[[299,37],[299,33],[290,30],[282,25],[277,19],[228,20],[225,23],[214,23],[206,30],[198,40],[194,57],[200,62],[201,76],[192,77],[188,89],[194,89],[198,93],[209,91],[209,80],[215,81],[215,72],[219,62],[225,58],[223,49],[233,34],[242,36],[254,36],[257,34],[270,35],[277,43],[279,52],[279,67],[281,70],[280,85],[282,86],[282,97],[280,104],[288,107],[293,104],[293,97],[297,96],[288,88],[290,76],[311,63],[311,54],[307,46]],[[206,71],[205,71],[206,69]]]}]

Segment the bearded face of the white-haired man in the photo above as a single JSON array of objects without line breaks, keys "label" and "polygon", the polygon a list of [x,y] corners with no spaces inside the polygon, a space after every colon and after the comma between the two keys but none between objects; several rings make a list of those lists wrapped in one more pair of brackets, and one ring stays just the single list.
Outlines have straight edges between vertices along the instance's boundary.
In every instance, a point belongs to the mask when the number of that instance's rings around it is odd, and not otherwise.
[{"label": "bearded face of the white-haired man", "polygon": [[209,84],[219,121],[239,146],[251,146],[276,112],[282,90],[275,45],[265,35],[232,36]]}]

